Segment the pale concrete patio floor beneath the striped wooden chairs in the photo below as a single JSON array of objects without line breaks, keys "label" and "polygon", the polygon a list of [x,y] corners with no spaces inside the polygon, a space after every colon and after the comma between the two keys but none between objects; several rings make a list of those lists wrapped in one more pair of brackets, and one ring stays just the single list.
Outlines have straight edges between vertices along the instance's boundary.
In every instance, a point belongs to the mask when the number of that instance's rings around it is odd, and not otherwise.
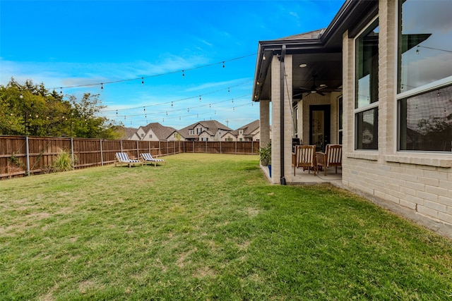
[{"label": "pale concrete patio floor beneath the striped wooden chairs", "polygon": [[[261,170],[266,175],[268,180],[270,180],[270,173],[268,171],[268,166],[261,166]],[[286,171],[287,172],[287,171]],[[290,168],[290,173],[293,175],[293,166]],[[279,182],[279,180],[278,180]],[[295,178],[287,185],[305,185],[305,184],[316,184],[316,183],[331,183],[340,185],[342,182],[342,167],[338,167],[338,173],[335,173],[335,168],[326,168],[326,176],[324,171],[316,173],[314,176],[314,171],[309,173],[308,171],[303,171],[303,168],[297,168],[295,170]]]}]

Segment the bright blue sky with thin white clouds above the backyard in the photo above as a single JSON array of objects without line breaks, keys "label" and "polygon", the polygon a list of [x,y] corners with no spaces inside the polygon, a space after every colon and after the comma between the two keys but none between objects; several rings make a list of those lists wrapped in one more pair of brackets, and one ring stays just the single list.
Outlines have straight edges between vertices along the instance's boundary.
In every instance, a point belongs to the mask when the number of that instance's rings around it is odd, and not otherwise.
[{"label": "bright blue sky with thin white clouds above the backyard", "polygon": [[102,116],[133,128],[236,129],[259,118],[258,41],[326,27],[342,4],[1,0],[0,85],[13,77],[79,99],[100,94]]}]

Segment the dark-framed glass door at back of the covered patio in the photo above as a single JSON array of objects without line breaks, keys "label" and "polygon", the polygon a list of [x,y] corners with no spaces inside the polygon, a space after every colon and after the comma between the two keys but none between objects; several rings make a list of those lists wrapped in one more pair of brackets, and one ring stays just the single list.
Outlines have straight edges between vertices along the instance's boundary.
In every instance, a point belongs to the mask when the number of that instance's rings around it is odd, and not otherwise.
[{"label": "dark-framed glass door at back of the covered patio", "polygon": [[330,143],[331,108],[329,104],[309,106],[309,145],[324,152]]}]

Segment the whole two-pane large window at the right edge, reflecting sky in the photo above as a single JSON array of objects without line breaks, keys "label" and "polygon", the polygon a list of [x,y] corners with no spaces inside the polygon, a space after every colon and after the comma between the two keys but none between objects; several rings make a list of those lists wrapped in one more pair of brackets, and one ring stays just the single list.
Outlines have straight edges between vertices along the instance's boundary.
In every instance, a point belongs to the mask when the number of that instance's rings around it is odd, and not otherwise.
[{"label": "whole two-pane large window at the right edge, reflecting sky", "polygon": [[452,1],[399,1],[399,150],[452,152]]}]

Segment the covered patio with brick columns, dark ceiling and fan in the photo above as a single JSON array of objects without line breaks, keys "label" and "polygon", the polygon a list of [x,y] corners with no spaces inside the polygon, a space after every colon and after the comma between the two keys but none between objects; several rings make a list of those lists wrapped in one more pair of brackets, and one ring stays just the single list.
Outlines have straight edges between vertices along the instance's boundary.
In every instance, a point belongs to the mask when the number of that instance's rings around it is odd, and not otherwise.
[{"label": "covered patio with brick columns, dark ceiling and fan", "polygon": [[[343,61],[348,61],[348,52],[342,32],[357,19],[344,19],[342,12],[372,11],[367,6],[374,3],[347,2],[326,29],[258,43],[253,101],[260,107],[261,147],[272,145],[271,183],[323,181],[312,180],[312,175],[305,179],[302,172],[293,175],[293,141],[315,145],[316,152],[346,142],[343,126],[352,121],[343,119]],[[360,16],[361,21],[370,16]]]}]

